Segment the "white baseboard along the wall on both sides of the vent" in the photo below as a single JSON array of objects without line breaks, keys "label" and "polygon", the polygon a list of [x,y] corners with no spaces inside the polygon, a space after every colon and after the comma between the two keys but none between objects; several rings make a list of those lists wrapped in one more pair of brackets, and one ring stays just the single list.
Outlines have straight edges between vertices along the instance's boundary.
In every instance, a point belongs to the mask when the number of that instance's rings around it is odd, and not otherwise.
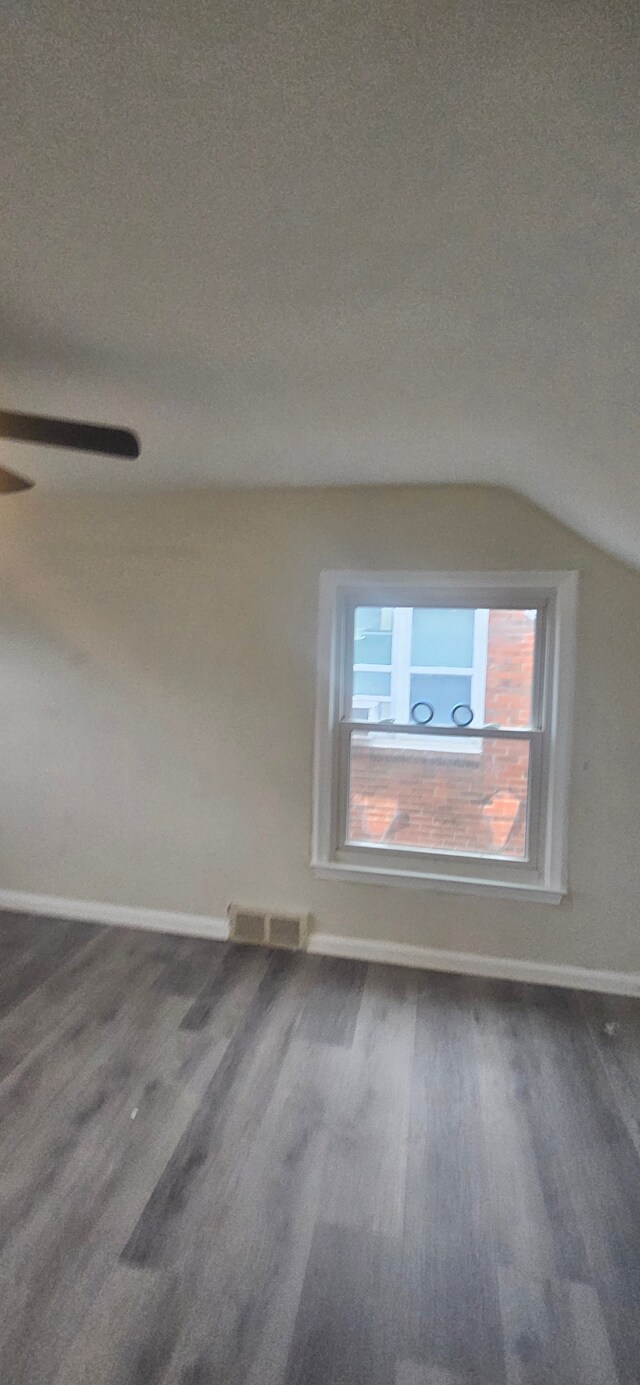
[{"label": "white baseboard along the wall on both sides of the vent", "polygon": [[[82,918],[91,924],[116,924],[121,928],[151,928],[161,933],[188,938],[229,938],[226,918],[206,914],[175,914],[162,909],[130,909],[126,904],[101,904],[87,899],[60,899],[55,895],[29,895],[18,889],[0,889],[0,910],[42,914],[48,918]],[[341,933],[309,936],[310,953],[324,957],[350,957],[395,967],[420,967],[425,971],[453,971],[464,976],[493,976],[503,981],[528,981],[543,986],[568,986],[575,990],[598,990],[614,996],[640,996],[640,975],[632,971],[592,971],[517,957],[486,957],[482,953],[446,951],[442,947],[417,947],[411,943],[380,942],[374,938],[344,938]]]}]

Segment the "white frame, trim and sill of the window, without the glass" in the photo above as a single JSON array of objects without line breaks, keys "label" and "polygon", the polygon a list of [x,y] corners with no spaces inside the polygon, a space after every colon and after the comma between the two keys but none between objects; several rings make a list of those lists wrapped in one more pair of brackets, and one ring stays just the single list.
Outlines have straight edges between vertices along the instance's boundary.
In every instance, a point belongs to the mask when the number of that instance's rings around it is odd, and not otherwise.
[{"label": "white frame, trim and sill of the window, without the glass", "polygon": [[[313,788],[312,867],[323,878],[424,885],[560,903],[568,891],[567,805],[571,762],[575,572],[323,572]],[[535,609],[532,724],[525,729],[385,727],[388,741],[439,737],[468,753],[488,737],[529,742],[526,859],[386,843],[349,843],[349,747],[367,723],[350,719],[353,612],[357,605]],[[479,719],[478,719],[479,720]],[[373,723],[368,723],[374,730]],[[378,741],[378,735],[377,735]]]}]

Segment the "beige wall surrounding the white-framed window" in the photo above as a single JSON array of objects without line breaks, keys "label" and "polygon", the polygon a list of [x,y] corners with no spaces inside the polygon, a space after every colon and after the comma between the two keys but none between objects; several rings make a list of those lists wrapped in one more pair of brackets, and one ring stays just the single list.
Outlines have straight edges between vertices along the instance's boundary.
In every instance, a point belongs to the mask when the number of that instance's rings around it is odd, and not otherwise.
[{"label": "beige wall surrounding the white-framed window", "polygon": [[[323,568],[578,568],[571,897],[309,870]],[[0,506],[0,888],[640,970],[640,573],[489,488]]]}]

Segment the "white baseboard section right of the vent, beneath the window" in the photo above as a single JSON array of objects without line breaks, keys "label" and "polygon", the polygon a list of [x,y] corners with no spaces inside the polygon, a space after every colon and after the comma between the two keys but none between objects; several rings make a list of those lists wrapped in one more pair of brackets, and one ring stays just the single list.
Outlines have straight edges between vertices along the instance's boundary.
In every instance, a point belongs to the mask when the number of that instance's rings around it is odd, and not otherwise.
[{"label": "white baseboard section right of the vent, beneath the window", "polygon": [[312,933],[309,951],[323,957],[350,957],[425,971],[453,971],[464,976],[493,976],[526,981],[542,986],[598,990],[612,996],[640,996],[640,975],[632,971],[592,971],[589,967],[553,965],[517,957],[486,957],[481,953],[446,951],[410,943],[378,942],[373,938],[344,938],[339,933]]}]

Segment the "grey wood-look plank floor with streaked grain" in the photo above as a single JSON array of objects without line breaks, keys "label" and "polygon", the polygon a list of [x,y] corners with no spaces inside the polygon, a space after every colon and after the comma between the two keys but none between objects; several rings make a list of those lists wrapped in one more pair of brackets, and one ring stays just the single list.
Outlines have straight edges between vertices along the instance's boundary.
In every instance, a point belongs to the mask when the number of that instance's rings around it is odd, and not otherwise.
[{"label": "grey wood-look plank floor with streaked grain", "polygon": [[3,1385],[637,1385],[640,1004],[0,915]]}]

